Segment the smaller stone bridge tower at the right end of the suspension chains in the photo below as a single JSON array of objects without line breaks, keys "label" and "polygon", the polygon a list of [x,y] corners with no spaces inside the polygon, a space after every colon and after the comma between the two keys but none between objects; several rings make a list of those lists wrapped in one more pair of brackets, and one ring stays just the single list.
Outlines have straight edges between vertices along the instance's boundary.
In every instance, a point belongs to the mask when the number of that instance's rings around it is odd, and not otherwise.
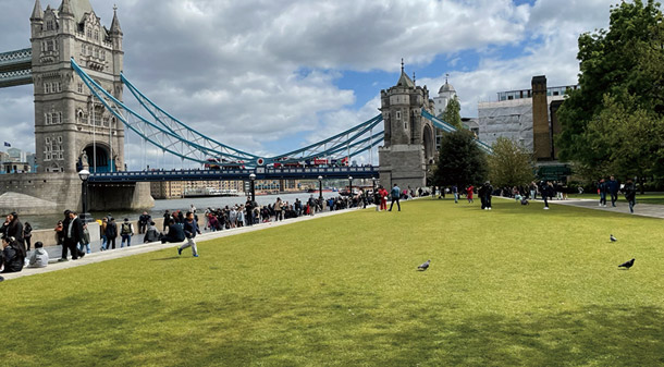
[{"label": "smaller stone bridge tower at the right end of the suspension chains", "polygon": [[421,117],[422,108],[433,113],[427,86],[416,86],[404,71],[395,86],[381,90],[385,124],[384,146],[379,147],[380,182],[402,189],[426,186],[427,171],[435,159],[433,124]]}]

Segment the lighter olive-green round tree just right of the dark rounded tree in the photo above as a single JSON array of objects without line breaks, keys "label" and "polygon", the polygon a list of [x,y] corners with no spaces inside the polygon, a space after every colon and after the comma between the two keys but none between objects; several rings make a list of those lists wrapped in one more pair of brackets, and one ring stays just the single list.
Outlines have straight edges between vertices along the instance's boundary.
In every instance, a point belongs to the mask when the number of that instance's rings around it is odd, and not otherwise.
[{"label": "lighter olive-green round tree just right of the dark rounded tree", "polygon": [[489,156],[489,179],[494,186],[524,186],[534,179],[532,154],[506,137],[499,137]]}]

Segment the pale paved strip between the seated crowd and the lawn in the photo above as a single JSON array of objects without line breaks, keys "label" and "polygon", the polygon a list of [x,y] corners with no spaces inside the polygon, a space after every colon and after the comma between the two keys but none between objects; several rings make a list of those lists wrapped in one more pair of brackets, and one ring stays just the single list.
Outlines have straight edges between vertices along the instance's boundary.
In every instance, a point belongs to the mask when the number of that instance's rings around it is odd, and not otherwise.
[{"label": "pale paved strip between the seated crowd and the lawn", "polygon": [[[367,206],[367,208],[369,206]],[[228,236],[254,232],[254,231],[261,231],[261,230],[267,230],[267,229],[274,228],[274,227],[287,225],[287,224],[297,223],[297,222],[302,222],[302,221],[347,213],[347,212],[352,212],[354,210],[357,210],[357,208],[335,210],[335,211],[323,211],[323,212],[317,213],[316,216],[302,216],[298,218],[292,218],[292,219],[282,220],[282,221],[278,221],[278,222],[260,223],[260,224],[256,224],[256,225],[251,225],[251,227],[242,227],[242,228],[223,230],[223,231],[218,231],[218,232],[204,232],[202,234],[196,236],[196,242],[200,243],[202,241],[228,237]],[[132,245],[131,247],[119,248],[120,247],[120,237],[118,237],[118,241],[115,242],[116,248],[109,249],[106,252],[99,250],[100,241],[94,241],[93,244],[90,244],[91,249],[93,249],[91,254],[85,255],[85,257],[82,259],[78,259],[78,260],[70,259],[69,261],[65,261],[65,262],[57,262],[57,259],[59,259],[62,254],[62,247],[60,247],[60,246],[50,246],[48,248],[45,247],[45,248],[47,248],[47,250],[49,253],[49,257],[51,259],[51,262],[46,268],[40,268],[40,269],[23,268],[23,270],[21,272],[5,273],[5,274],[2,274],[2,277],[4,278],[5,281],[8,281],[8,280],[16,279],[16,278],[22,278],[22,277],[28,277],[28,276],[40,274],[40,273],[45,273],[45,272],[69,269],[69,268],[79,267],[79,266],[84,266],[84,265],[88,265],[88,264],[95,264],[95,262],[101,262],[101,261],[118,259],[118,258],[127,257],[127,256],[134,256],[134,255],[138,255],[138,254],[151,253],[151,252],[156,252],[156,250],[160,250],[160,249],[164,249],[164,248],[170,248],[173,252],[173,254],[176,254],[175,248],[184,243],[184,242],[182,242],[182,243],[162,244],[161,242],[153,242],[153,243],[149,243],[149,244],[143,244],[142,243],[143,234],[136,234],[136,235],[134,235],[134,237],[132,240],[133,240],[133,243],[136,245]],[[187,256],[185,254],[189,254],[188,256],[190,256],[190,252],[183,253],[182,256]],[[200,253],[200,256],[205,256],[205,252]]]}]

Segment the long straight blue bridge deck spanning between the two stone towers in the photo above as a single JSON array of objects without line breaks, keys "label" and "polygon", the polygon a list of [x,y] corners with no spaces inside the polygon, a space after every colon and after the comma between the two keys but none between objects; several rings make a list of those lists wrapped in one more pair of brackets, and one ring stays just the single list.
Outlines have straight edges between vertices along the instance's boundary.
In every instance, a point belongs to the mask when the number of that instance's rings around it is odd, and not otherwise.
[{"label": "long straight blue bridge deck spanning between the two stone towers", "polygon": [[158,182],[158,181],[248,181],[256,174],[256,180],[318,180],[329,179],[378,179],[378,167],[328,167],[328,168],[265,168],[241,170],[172,170],[172,171],[121,171],[93,173],[90,183],[119,182]]}]

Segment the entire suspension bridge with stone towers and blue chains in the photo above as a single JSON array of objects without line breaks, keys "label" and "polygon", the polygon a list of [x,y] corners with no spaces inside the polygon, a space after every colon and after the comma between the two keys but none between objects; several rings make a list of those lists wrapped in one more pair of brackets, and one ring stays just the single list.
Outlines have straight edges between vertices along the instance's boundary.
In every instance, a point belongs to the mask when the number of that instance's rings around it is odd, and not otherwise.
[{"label": "entire suspension bridge with stone towers and blue chains", "polygon": [[[36,0],[29,22],[32,47],[0,53],[0,88],[34,85],[37,172],[0,175],[0,194],[30,195],[56,203],[58,209],[82,206],[82,169],[93,172],[93,197],[118,197],[93,200],[96,210],[151,206],[151,181],[353,175],[380,176],[385,186],[395,182],[415,188],[426,185],[438,157],[435,131],[455,131],[435,118],[436,101],[429,98],[427,86],[416,85],[405,73],[402,62],[397,84],[381,90],[380,114],[318,143],[261,157],[192,129],[130,82],[122,73],[124,35],[116,8],[107,28],[89,0],[62,0],[58,9],[42,9]],[[125,88],[138,109],[125,105]],[[164,155],[220,169],[127,172],[125,130]],[[372,155],[376,147],[380,167],[348,167],[351,158]],[[323,161],[325,167],[298,167],[302,161]],[[348,166],[335,167],[334,161]],[[123,185],[104,187],[119,182]]]}]

